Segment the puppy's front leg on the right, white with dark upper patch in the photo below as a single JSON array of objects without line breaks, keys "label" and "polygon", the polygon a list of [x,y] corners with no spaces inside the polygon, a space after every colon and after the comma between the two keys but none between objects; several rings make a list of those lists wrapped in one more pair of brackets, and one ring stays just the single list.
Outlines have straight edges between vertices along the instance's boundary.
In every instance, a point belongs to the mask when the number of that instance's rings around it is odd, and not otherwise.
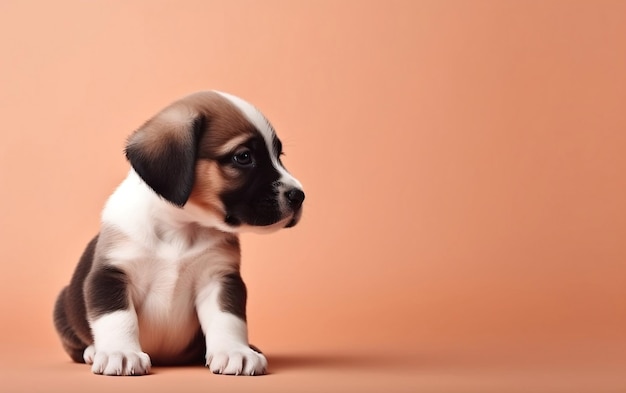
[{"label": "puppy's front leg on the right, white with dark upper patch", "polygon": [[250,348],[246,324],[246,286],[231,273],[205,286],[196,299],[206,336],[206,365],[216,374],[265,374],[267,360]]}]

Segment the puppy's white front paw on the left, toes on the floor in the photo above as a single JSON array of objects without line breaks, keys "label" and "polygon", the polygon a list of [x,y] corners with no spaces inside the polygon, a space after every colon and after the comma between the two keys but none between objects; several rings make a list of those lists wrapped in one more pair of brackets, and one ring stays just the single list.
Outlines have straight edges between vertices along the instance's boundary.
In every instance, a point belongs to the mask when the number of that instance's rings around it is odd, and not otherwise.
[{"label": "puppy's white front paw on the left, toes on the floor", "polygon": [[145,375],[150,373],[150,356],[135,351],[97,351],[91,371],[103,375]]}]

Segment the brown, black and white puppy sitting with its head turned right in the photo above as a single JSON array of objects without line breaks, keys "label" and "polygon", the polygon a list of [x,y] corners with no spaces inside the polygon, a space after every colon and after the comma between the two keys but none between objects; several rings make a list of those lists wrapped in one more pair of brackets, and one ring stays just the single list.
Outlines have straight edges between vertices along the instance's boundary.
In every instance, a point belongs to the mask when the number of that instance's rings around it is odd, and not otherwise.
[{"label": "brown, black and white puppy sitting with its head turned right", "polygon": [[148,120],[125,152],[132,168],[56,301],[63,347],[96,374],[194,362],[264,374],[237,234],[293,227],[304,200],[271,124],[241,98],[198,92]]}]

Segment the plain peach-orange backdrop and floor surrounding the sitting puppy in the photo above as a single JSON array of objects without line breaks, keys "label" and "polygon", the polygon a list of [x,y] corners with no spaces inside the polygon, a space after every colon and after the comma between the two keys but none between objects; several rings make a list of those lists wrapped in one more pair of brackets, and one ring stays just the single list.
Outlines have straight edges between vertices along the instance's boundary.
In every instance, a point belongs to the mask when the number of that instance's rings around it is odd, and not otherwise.
[{"label": "plain peach-orange backdrop and floor surrounding the sitting puppy", "polygon": [[[0,391],[626,391],[626,2],[0,2]],[[216,88],[299,226],[243,237],[271,375],[92,376],[52,327],[127,135]]]}]

